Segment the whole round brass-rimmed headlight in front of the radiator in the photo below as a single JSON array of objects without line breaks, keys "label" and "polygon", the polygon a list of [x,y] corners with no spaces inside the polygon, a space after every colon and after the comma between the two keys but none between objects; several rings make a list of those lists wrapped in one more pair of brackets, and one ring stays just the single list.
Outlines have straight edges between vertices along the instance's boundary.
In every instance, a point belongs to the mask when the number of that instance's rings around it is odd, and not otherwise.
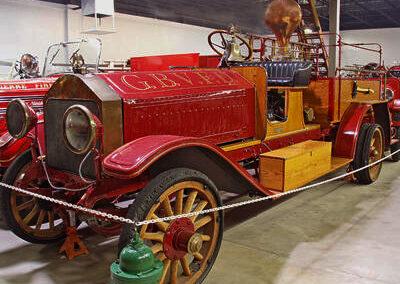
[{"label": "whole round brass-rimmed headlight in front of the radiator", "polygon": [[90,110],[82,105],[73,105],[64,114],[64,141],[76,154],[87,153],[96,140],[96,121]]}]

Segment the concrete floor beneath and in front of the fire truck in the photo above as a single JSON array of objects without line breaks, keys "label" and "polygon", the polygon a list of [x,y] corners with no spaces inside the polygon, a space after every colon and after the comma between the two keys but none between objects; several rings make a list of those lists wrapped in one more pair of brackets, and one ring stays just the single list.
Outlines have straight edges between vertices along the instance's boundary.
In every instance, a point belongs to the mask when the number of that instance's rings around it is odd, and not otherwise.
[{"label": "concrete floor beneath and in front of the fire truck", "polygon": [[[372,186],[338,181],[227,212],[206,283],[400,283],[399,172],[386,162]],[[0,230],[0,283],[107,283],[116,240],[82,234],[91,254],[69,262],[59,245]]]}]

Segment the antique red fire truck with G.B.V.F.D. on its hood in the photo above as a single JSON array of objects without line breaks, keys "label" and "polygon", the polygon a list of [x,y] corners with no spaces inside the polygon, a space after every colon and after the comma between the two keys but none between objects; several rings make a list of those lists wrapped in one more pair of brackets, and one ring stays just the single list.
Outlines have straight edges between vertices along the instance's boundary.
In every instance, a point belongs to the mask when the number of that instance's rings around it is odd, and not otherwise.
[{"label": "antique red fire truck with G.B.V.F.D. on its hood", "polygon": [[[319,68],[328,61],[325,47],[301,40],[301,34],[290,42],[301,10],[283,2],[272,1],[266,13],[276,39],[243,38],[233,30],[210,35],[222,56],[218,68],[68,74],[44,98],[44,123],[29,105],[12,101],[8,131],[14,138],[33,131],[35,139],[3,182],[142,221],[221,206],[221,191],[290,191],[398,149],[393,120],[399,108],[389,109],[385,76],[344,78],[339,72],[328,78]],[[289,13],[290,25],[272,17],[274,9],[285,21]],[[216,43],[215,35],[222,41]],[[398,92],[395,85],[391,90]],[[381,167],[354,179],[370,184]],[[95,232],[120,234],[119,249],[134,230],[7,188],[1,210],[10,229],[33,243],[64,238],[75,217]],[[164,263],[162,283],[201,282],[219,251],[223,214],[158,222],[139,232]]]}]

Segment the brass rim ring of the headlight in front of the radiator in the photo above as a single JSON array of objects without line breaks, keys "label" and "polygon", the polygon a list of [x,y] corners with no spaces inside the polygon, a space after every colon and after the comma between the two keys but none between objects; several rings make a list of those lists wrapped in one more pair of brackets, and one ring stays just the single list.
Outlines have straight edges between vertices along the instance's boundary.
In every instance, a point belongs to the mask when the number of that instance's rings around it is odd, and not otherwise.
[{"label": "brass rim ring of the headlight in front of the radiator", "polygon": [[[67,120],[68,115],[74,110],[79,110],[85,115],[85,118],[90,127],[89,141],[88,141],[86,147],[84,147],[83,149],[80,149],[80,150],[76,149],[74,146],[71,145],[71,143],[68,141],[67,134],[66,134],[66,127],[65,127],[66,120]],[[70,106],[65,111],[64,116],[63,116],[63,138],[64,138],[65,145],[71,152],[78,154],[78,155],[87,153],[94,145],[94,142],[96,139],[96,128],[97,128],[97,124],[96,124],[96,121],[94,120],[93,113],[87,107],[85,107],[83,105],[73,105],[73,106]]]}]

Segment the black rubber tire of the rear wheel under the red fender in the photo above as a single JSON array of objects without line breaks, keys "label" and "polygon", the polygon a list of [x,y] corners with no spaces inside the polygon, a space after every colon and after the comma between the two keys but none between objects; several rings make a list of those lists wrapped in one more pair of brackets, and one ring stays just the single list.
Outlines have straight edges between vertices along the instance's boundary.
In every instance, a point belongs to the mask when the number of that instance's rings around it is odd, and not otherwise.
[{"label": "black rubber tire of the rear wheel under the red fender", "polygon": [[[356,155],[354,158],[353,162],[353,168],[354,170],[365,167],[369,164],[369,150],[370,150],[370,144],[371,140],[373,138],[373,134],[375,131],[379,129],[382,133],[382,144],[384,143],[384,134],[382,127],[379,126],[378,124],[370,124],[370,123],[365,123],[361,126],[359,136],[357,139],[357,148],[356,148]],[[384,146],[383,146],[384,147]],[[383,149],[382,149],[383,153]],[[379,172],[382,169],[382,164],[380,165]],[[371,184],[375,180],[371,177],[369,169],[365,169],[359,172],[356,172],[354,176],[357,179],[357,182],[359,184]]]}]

